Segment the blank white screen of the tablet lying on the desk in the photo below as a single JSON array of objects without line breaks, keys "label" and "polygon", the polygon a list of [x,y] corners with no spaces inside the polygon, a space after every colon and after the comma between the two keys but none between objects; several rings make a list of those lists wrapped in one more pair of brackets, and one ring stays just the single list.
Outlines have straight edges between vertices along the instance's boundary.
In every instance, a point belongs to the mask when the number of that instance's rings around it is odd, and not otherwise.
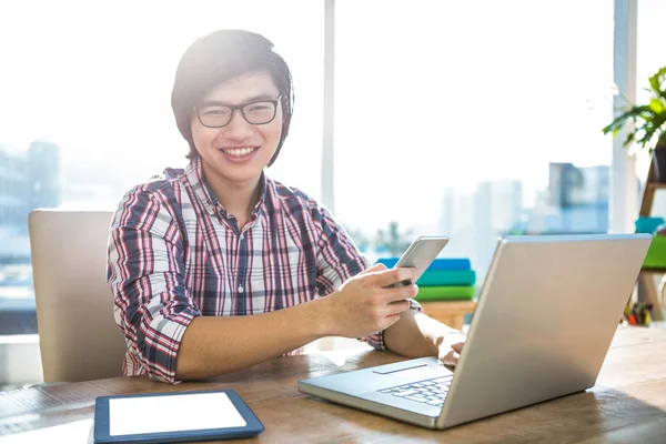
[{"label": "blank white screen of the tablet lying on the desk", "polygon": [[244,427],[226,393],[193,393],[109,400],[111,436]]}]

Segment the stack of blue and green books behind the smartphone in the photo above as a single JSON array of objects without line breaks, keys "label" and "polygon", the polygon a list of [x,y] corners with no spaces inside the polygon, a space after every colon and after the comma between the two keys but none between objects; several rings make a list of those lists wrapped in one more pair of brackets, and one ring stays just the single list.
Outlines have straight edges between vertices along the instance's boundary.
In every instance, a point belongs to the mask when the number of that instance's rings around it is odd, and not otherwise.
[{"label": "stack of blue and green books behind the smartphone", "polygon": [[[392,269],[397,258],[377,261]],[[476,272],[466,258],[437,258],[416,281],[416,301],[471,301],[474,299]]]}]

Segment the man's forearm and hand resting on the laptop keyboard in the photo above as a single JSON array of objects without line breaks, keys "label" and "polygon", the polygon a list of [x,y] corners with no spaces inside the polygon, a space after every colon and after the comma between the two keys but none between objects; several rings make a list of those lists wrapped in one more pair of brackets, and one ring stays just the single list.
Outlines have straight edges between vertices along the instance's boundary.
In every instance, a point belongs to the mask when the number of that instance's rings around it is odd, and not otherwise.
[{"label": "man's forearm and hand resting on the laptop keyboard", "polygon": [[400,321],[384,332],[386,347],[408,357],[436,356],[447,365],[457,363],[464,334],[415,310],[401,313]]}]

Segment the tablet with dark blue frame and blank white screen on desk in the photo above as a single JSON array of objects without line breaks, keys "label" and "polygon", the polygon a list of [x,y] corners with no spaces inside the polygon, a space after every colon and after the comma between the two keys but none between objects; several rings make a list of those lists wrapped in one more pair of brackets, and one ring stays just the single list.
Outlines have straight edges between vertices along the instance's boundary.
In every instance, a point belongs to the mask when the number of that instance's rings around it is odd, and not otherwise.
[{"label": "tablet with dark blue frame and blank white screen on desk", "polygon": [[178,443],[254,436],[264,426],[230,389],[100,396],[95,443]]}]

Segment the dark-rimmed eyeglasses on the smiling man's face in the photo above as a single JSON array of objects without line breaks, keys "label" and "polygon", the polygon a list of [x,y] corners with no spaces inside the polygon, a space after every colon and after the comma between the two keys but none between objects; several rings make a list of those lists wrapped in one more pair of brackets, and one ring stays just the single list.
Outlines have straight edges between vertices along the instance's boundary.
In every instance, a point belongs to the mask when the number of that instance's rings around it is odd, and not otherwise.
[{"label": "dark-rimmed eyeglasses on the smiling man's face", "polygon": [[275,100],[260,100],[236,105],[208,103],[195,108],[196,117],[206,128],[222,128],[231,122],[235,110],[240,110],[248,123],[265,124],[275,119],[280,99],[281,97],[278,97]]}]

